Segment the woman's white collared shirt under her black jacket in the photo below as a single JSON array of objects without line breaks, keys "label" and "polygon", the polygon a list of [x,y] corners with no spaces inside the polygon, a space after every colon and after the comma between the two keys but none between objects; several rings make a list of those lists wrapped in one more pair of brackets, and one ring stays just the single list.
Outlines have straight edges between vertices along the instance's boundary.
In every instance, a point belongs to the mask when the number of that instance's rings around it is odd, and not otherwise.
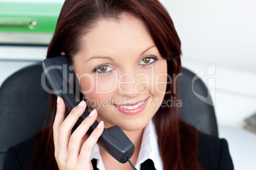
[{"label": "woman's white collared shirt under her black jacket", "polygon": [[[97,144],[92,150],[92,157],[90,158],[90,160],[92,159],[97,159],[97,168],[99,170],[105,170],[103,160],[99,152],[99,145]],[[136,169],[140,170],[141,164],[147,159],[151,159],[153,161],[155,169],[163,169],[162,159],[160,157],[159,147],[157,143],[157,133],[155,131],[155,126],[152,120],[148,122],[143,132],[141,148],[139,150],[139,156],[135,164]]]}]

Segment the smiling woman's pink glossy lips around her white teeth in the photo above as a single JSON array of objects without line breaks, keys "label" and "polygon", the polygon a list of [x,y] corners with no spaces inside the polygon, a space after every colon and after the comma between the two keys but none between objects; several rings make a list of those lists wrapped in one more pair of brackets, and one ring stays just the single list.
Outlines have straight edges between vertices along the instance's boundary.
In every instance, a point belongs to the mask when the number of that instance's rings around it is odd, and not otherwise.
[{"label": "smiling woman's pink glossy lips around her white teeth", "polygon": [[148,98],[146,98],[145,100],[138,101],[136,103],[127,103],[125,105],[121,105],[121,106],[134,106],[134,105],[137,105],[138,103],[141,103],[142,101],[145,101],[145,103],[143,103],[140,107],[132,109],[132,110],[128,110],[128,109],[119,107],[120,105],[114,105],[114,106],[120,112],[122,112],[122,113],[124,113],[126,115],[136,115],[136,114],[139,114],[139,112],[141,112],[142,110],[144,110],[144,108],[146,107],[146,103],[148,102]]}]

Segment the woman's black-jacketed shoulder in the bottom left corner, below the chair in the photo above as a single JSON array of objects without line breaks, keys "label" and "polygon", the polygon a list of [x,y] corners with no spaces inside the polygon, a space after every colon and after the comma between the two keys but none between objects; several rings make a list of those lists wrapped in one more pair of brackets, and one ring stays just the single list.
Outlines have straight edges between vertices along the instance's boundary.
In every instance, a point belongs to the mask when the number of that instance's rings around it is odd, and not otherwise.
[{"label": "woman's black-jacketed shoulder in the bottom left corner, below the chair", "polygon": [[27,169],[34,153],[34,140],[29,139],[8,148],[4,159],[4,169]]}]

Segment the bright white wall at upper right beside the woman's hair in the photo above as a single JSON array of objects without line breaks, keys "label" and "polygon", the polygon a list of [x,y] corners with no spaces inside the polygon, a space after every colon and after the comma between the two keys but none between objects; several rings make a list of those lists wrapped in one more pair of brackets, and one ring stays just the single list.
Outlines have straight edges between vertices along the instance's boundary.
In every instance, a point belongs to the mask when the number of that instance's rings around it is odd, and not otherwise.
[{"label": "bright white wall at upper right beside the woman's hair", "polygon": [[183,60],[256,73],[256,1],[165,1],[182,42]]}]

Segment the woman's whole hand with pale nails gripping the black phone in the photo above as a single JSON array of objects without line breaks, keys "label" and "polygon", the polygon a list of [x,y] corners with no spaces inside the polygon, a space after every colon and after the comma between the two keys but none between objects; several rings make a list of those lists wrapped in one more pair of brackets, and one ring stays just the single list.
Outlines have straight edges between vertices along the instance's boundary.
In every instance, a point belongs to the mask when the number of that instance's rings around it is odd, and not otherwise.
[{"label": "woman's whole hand with pale nails gripping the black phone", "polygon": [[90,136],[86,133],[96,121],[97,111],[92,110],[90,115],[71,134],[71,129],[86,107],[85,101],[81,101],[65,119],[64,100],[60,97],[57,99],[57,112],[53,123],[53,141],[54,155],[60,170],[93,169],[90,157],[99,136],[103,133],[103,121],[99,123]]}]

